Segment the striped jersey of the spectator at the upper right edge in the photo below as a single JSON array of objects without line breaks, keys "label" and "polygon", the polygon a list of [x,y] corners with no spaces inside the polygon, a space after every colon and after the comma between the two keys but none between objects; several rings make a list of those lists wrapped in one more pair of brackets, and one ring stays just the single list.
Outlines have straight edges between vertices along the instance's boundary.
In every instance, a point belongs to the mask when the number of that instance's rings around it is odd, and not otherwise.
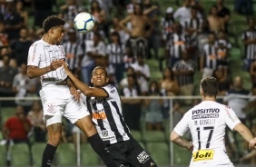
[{"label": "striped jersey of the spectator at the upper right edge", "polygon": [[[247,30],[243,34],[241,34],[241,39],[243,41],[246,40],[255,40],[256,39],[256,31],[255,30]],[[256,44],[245,44],[244,47],[245,50],[245,58],[249,60],[255,59],[255,50],[256,50]]]}]

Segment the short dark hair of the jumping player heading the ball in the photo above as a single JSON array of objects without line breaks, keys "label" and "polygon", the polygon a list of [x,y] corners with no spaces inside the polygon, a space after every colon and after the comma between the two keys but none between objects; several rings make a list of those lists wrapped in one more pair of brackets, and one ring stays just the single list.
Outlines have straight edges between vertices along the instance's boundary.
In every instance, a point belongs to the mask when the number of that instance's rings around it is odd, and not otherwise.
[{"label": "short dark hair of the jumping player heading the ball", "polygon": [[43,29],[44,33],[48,33],[48,31],[53,28],[54,26],[60,26],[64,25],[64,19],[56,16],[56,15],[51,15],[48,16],[43,23]]}]

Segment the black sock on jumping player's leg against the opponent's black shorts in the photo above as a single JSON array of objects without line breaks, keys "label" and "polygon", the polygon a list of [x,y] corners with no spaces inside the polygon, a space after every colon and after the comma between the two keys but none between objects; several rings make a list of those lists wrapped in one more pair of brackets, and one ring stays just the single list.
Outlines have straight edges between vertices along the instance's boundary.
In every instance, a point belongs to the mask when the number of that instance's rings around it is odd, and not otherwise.
[{"label": "black sock on jumping player's leg against the opponent's black shorts", "polygon": [[116,162],[113,161],[113,157],[111,156],[108,148],[106,147],[98,133],[95,133],[91,137],[88,137],[88,142],[90,142],[94,151],[100,155],[107,167],[118,166],[118,163],[116,164]]}]

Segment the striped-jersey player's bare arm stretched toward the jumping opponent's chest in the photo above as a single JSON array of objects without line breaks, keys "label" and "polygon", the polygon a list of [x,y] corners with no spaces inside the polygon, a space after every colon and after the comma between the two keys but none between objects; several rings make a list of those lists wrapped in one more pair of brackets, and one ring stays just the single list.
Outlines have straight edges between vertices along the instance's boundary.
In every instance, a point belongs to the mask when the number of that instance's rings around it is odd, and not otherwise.
[{"label": "striped-jersey player's bare arm stretched toward the jumping opponent's chest", "polygon": [[[79,89],[86,96],[96,96],[96,97],[107,97],[108,94],[101,88],[89,87],[87,84],[82,83],[77,79],[74,74],[68,69],[67,65],[63,62],[65,73],[70,77],[77,89]],[[99,80],[101,80],[102,74],[98,74]],[[98,77],[96,76],[96,77]]]}]

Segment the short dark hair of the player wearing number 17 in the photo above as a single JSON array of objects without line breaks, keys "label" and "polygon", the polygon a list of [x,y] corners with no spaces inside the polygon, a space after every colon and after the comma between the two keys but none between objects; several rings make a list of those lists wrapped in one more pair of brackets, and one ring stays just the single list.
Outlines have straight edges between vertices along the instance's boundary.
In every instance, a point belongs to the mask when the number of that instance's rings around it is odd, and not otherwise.
[{"label": "short dark hair of the player wearing number 17", "polygon": [[212,76],[207,76],[201,81],[201,89],[204,96],[215,96],[219,91],[219,82]]}]

